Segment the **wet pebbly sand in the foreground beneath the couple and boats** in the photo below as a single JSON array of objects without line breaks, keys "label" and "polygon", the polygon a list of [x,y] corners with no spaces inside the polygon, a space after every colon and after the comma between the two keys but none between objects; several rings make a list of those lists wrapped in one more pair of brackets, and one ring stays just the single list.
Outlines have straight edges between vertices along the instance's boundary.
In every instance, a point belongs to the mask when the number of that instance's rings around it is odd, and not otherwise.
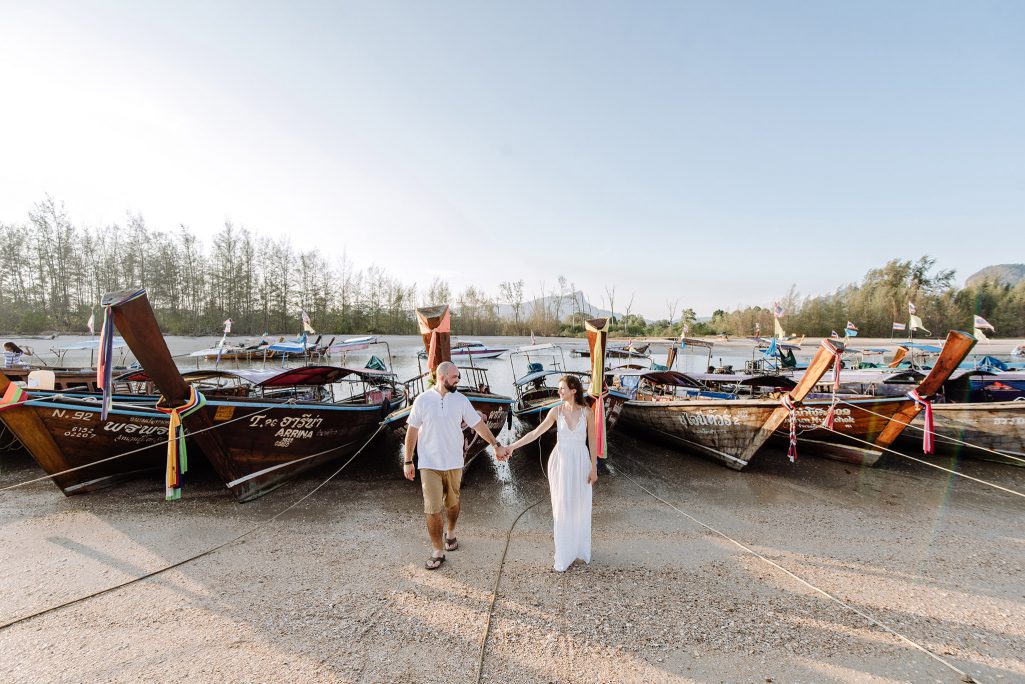
[{"label": "wet pebbly sand in the foreground beneath the couple and boats", "polygon": [[[0,631],[0,680],[476,681],[506,533],[540,499],[511,535],[483,681],[958,681],[632,478],[980,681],[1025,681],[1020,497],[893,456],[859,470],[770,449],[734,473],[628,435],[611,447],[589,565],[550,570],[546,482],[528,447],[508,466],[475,464],[461,547],[423,569],[419,486],[385,437],[244,540]],[[959,468],[1025,491],[1025,469]],[[332,470],[246,505],[212,477],[174,502],[159,475],[71,498],[45,482],[4,492],[0,622],[216,546]],[[38,474],[0,454],[0,486]]]}]

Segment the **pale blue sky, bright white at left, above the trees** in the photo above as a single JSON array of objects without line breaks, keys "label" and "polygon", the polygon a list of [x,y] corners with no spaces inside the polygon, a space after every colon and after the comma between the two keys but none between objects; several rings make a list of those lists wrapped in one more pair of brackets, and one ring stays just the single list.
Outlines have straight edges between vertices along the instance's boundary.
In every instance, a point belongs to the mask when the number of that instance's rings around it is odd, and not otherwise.
[{"label": "pale blue sky, bright white at left, above the trees", "polygon": [[[664,317],[1025,261],[1025,3],[9,2],[0,223]],[[1014,245],[1019,245],[1014,247]]]}]

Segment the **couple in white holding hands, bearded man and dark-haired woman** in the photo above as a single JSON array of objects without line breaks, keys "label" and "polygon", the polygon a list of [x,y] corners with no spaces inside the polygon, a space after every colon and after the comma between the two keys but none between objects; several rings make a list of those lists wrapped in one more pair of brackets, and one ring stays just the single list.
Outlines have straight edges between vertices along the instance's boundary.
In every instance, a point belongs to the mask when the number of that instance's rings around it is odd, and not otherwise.
[{"label": "couple in white holding hands, bearded man and dark-haired woman", "polygon": [[[548,457],[551,515],[555,519],[555,569],[562,572],[576,559],[590,562],[591,485],[598,481],[594,449],[594,414],[583,396],[576,375],[559,380],[562,403],[548,410],[537,428],[508,446],[498,444],[486,421],[469,400],[457,391],[459,368],[451,361],[438,366],[437,381],[421,393],[409,413],[403,474],[416,477],[413,451],[419,455],[420,483],[427,533],[434,548],[424,567],[436,570],[445,562],[445,552],[459,548],[459,484],[462,478],[462,426],[465,424],[495,447],[498,460],[530,444],[558,426],[556,448]],[[444,519],[443,519],[444,512]]]}]

